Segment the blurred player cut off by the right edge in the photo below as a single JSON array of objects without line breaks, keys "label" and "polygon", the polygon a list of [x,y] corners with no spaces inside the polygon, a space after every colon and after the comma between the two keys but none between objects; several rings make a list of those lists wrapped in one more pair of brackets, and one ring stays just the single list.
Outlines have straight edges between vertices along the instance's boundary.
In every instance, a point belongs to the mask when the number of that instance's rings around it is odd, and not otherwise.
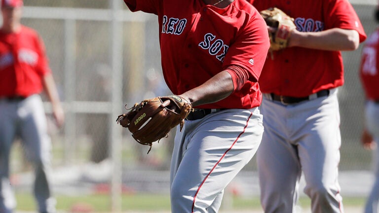
[{"label": "blurred player cut off by the right edge", "polygon": [[[375,11],[379,22],[379,7]],[[363,46],[360,67],[360,78],[366,95],[365,129],[362,144],[365,148],[374,149],[379,142],[379,28],[371,34]],[[379,149],[375,162],[375,182],[367,199],[365,213],[378,213],[379,202]]]}]

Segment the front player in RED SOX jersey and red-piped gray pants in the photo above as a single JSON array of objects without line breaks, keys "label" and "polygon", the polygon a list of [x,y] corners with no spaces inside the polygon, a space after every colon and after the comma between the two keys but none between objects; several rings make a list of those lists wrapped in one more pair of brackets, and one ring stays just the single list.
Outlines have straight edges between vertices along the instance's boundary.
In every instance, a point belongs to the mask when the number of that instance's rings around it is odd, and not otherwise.
[{"label": "front player in RED SOX jersey and red-piped gray pants", "polygon": [[164,79],[195,108],[175,136],[172,213],[217,213],[262,138],[265,21],[245,0],[124,1],[158,16]]}]

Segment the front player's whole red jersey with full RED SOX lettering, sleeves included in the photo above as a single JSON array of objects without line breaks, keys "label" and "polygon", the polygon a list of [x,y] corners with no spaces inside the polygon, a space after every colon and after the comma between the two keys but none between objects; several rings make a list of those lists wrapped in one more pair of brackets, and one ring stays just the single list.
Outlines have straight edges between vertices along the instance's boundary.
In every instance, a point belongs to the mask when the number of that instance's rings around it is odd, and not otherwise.
[{"label": "front player's whole red jersey with full RED SOX lettering, sleeves included", "polygon": [[244,68],[248,81],[226,99],[199,108],[252,108],[262,94],[256,82],[269,47],[265,21],[245,0],[226,8],[202,0],[124,0],[132,11],[158,16],[161,63],[170,90],[180,95],[230,65]]}]

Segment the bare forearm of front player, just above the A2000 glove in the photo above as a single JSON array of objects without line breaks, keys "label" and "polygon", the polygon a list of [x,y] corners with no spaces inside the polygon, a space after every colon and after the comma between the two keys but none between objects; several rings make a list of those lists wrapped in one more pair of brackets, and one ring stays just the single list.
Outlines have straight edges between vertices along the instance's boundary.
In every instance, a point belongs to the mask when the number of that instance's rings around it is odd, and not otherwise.
[{"label": "bare forearm of front player, just above the A2000 glove", "polygon": [[189,100],[192,106],[215,103],[228,97],[234,90],[233,81],[227,71],[222,71],[202,85],[180,96]]}]

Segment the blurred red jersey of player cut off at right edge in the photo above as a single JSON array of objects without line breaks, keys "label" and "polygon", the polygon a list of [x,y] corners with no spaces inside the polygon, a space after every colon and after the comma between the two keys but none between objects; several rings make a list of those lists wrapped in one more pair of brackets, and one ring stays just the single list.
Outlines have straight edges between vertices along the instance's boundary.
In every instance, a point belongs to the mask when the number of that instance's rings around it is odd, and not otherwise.
[{"label": "blurred red jersey of player cut off at right edge", "polygon": [[379,28],[369,36],[362,49],[360,77],[366,96],[379,100]]}]

